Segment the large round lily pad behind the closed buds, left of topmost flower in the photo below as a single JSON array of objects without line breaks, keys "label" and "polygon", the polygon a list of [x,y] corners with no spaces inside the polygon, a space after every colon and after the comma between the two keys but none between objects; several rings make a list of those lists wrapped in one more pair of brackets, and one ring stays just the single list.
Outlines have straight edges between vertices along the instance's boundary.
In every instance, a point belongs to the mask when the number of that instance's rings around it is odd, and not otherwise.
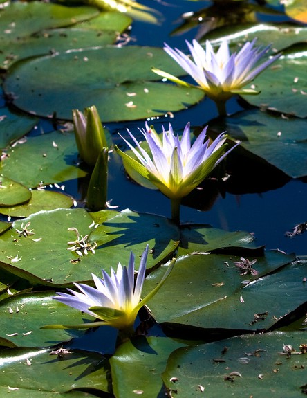
[{"label": "large round lily pad behind the closed buds, left of topmost flower", "polygon": [[95,104],[104,122],[146,119],[203,98],[199,89],[151,81],[160,80],[153,66],[182,73],[162,48],[110,46],[17,62],[3,87],[13,93],[17,107],[31,114],[50,117],[56,112],[58,118],[71,119],[71,109]]}]

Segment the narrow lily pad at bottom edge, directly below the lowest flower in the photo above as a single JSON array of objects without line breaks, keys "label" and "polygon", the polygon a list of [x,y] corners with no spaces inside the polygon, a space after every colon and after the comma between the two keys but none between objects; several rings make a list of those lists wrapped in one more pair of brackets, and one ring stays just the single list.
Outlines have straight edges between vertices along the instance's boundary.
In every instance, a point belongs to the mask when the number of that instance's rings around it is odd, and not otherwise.
[{"label": "narrow lily pad at bottom edge, directly below the lowest flower", "polygon": [[158,397],[163,390],[161,373],[167,358],[183,346],[171,338],[154,336],[138,336],[120,345],[110,359],[115,397]]}]

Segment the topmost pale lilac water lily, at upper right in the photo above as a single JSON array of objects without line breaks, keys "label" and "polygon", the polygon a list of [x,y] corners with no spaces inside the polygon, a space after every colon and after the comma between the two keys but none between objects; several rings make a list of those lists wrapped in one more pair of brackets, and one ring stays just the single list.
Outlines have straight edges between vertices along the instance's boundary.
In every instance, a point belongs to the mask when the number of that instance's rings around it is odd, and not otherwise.
[{"label": "topmost pale lilac water lily, at upper right", "polygon": [[[225,39],[216,53],[209,40],[206,41],[205,49],[195,39],[192,44],[186,40],[192,59],[178,48],[173,49],[167,44],[164,50],[195,80],[196,87],[203,89],[207,96],[219,105],[225,103],[233,94],[259,93],[254,89],[243,89],[243,87],[277,60],[280,54],[259,63],[270,46],[254,47],[256,40],[246,42],[239,53],[232,54]],[[153,69],[153,71],[178,84],[192,86],[160,69]]]}]

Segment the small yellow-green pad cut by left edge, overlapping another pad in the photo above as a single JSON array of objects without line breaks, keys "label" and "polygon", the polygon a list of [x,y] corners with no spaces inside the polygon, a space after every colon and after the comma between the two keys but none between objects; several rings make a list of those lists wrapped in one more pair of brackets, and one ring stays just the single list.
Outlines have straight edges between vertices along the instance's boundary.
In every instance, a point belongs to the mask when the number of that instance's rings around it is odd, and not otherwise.
[{"label": "small yellow-green pad cut by left edge, overlapping another pad", "polygon": [[29,201],[31,191],[25,186],[0,175],[0,212],[2,206],[15,206]]}]

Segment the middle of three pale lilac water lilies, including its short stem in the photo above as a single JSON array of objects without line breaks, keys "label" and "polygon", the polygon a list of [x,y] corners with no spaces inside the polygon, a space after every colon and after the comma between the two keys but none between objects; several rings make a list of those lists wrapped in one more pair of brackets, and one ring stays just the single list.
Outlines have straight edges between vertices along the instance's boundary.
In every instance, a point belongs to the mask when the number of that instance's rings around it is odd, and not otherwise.
[{"label": "middle of three pale lilac water lilies, including its short stem", "polygon": [[180,199],[196,188],[218,163],[232,150],[225,153],[226,134],[220,134],[214,141],[205,141],[207,127],[191,143],[189,123],[185,126],[181,139],[169,123],[169,130],[162,127],[162,140],[154,127],[146,123],[146,128],[140,130],[149,145],[150,155],[140,146],[136,138],[129,132],[136,147],[125,138],[123,140],[137,159],[115,150],[142,177],[149,179],[169,199],[172,205],[172,218],[178,222]]}]

